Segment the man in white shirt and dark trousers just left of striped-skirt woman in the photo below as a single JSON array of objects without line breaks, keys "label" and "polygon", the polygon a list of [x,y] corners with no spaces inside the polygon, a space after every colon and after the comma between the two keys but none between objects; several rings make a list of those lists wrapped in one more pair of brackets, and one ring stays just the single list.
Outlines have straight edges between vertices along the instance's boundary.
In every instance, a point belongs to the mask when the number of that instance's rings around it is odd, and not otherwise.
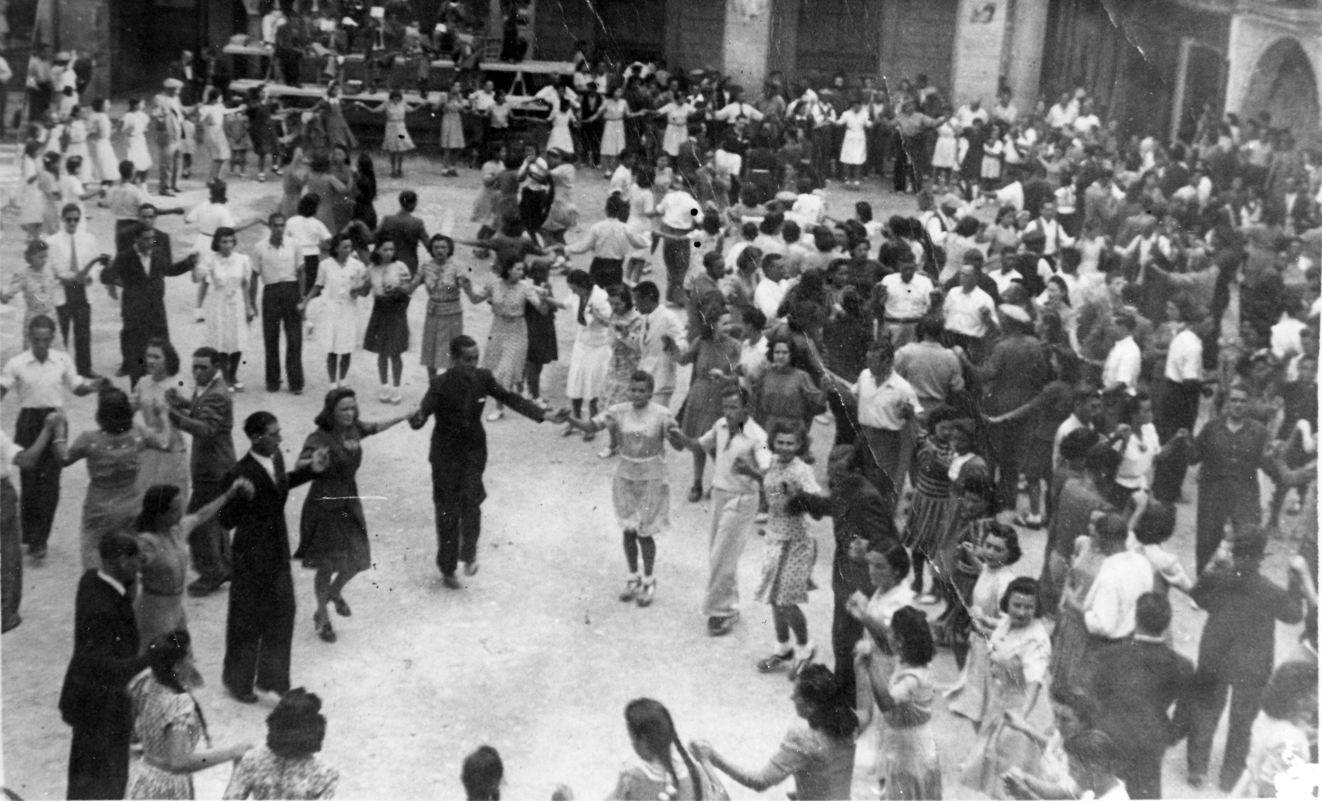
[{"label": "man in white shirt and dark trousers just left of striped-skirt woman", "polygon": [[923,407],[914,385],[895,371],[895,354],[887,340],[878,340],[867,352],[867,369],[858,374],[853,394],[858,399],[858,424],[873,453],[870,468],[879,471],[867,471],[869,477],[883,496],[898,497],[904,492],[914,453],[912,420]]}]

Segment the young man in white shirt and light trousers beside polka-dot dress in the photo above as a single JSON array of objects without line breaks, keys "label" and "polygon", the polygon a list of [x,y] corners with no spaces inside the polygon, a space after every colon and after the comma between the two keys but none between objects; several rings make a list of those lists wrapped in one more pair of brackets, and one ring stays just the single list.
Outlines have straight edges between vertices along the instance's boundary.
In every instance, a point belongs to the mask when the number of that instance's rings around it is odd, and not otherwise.
[{"label": "young man in white shirt and light trousers beside polka-dot dress", "polygon": [[673,443],[706,453],[711,469],[711,546],[706,600],[707,633],[728,634],[739,619],[739,555],[758,515],[759,484],[754,477],[771,467],[767,432],[748,418],[746,393],[731,383],[720,399],[722,416],[698,439],[672,434]]}]

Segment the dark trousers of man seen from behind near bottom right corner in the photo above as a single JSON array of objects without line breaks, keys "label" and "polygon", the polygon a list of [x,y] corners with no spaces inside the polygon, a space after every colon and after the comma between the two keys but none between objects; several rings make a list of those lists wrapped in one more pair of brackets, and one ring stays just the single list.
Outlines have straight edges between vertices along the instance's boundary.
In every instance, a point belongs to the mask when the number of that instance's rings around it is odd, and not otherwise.
[{"label": "dark trousers of man seen from behind near bottom right corner", "polygon": [[[1231,694],[1229,730],[1225,734],[1225,753],[1222,756],[1220,784],[1223,788],[1235,784],[1244,772],[1248,760],[1249,735],[1253,719],[1263,706],[1263,689],[1266,675],[1231,678],[1225,675],[1200,674],[1194,678],[1202,698],[1192,707],[1192,724],[1188,732],[1188,772],[1206,776],[1207,763],[1212,752],[1212,735],[1225,708],[1225,697]],[[1141,796],[1132,796],[1138,798]]]}]

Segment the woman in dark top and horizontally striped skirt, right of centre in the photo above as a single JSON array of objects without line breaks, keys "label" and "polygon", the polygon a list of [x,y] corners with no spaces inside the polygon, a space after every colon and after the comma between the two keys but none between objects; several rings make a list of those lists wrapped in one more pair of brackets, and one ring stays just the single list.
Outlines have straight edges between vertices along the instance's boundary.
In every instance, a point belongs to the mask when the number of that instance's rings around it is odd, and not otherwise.
[{"label": "woman in dark top and horizontally striped skirt, right of centre", "polygon": [[[904,545],[914,555],[914,593],[923,592],[923,566],[932,560],[937,546],[944,542],[960,514],[960,501],[951,496],[951,460],[954,448],[948,440],[951,422],[958,411],[952,406],[939,406],[927,415],[927,434],[920,435],[917,469],[914,471],[914,500],[904,522]],[[933,567],[935,570],[935,567]],[[931,595],[923,603],[933,603]]]}]

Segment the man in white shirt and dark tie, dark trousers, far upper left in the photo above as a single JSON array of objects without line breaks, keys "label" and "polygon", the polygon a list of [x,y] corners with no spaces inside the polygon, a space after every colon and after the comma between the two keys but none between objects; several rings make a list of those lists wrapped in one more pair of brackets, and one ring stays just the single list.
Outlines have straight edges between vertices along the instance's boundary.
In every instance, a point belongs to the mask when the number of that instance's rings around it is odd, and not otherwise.
[{"label": "man in white shirt and dark tie, dark trousers, far upper left", "polygon": [[[102,252],[97,237],[81,226],[82,210],[75,204],[66,204],[61,210],[63,227],[46,238],[50,248],[46,263],[56,274],[54,303],[59,317],[59,334],[69,349],[69,328],[74,330],[74,365],[78,374],[95,378],[91,369],[91,305],[87,303],[87,284],[91,283],[91,270],[97,264],[108,264],[110,256]],[[82,227],[82,230],[79,230]]]}]

